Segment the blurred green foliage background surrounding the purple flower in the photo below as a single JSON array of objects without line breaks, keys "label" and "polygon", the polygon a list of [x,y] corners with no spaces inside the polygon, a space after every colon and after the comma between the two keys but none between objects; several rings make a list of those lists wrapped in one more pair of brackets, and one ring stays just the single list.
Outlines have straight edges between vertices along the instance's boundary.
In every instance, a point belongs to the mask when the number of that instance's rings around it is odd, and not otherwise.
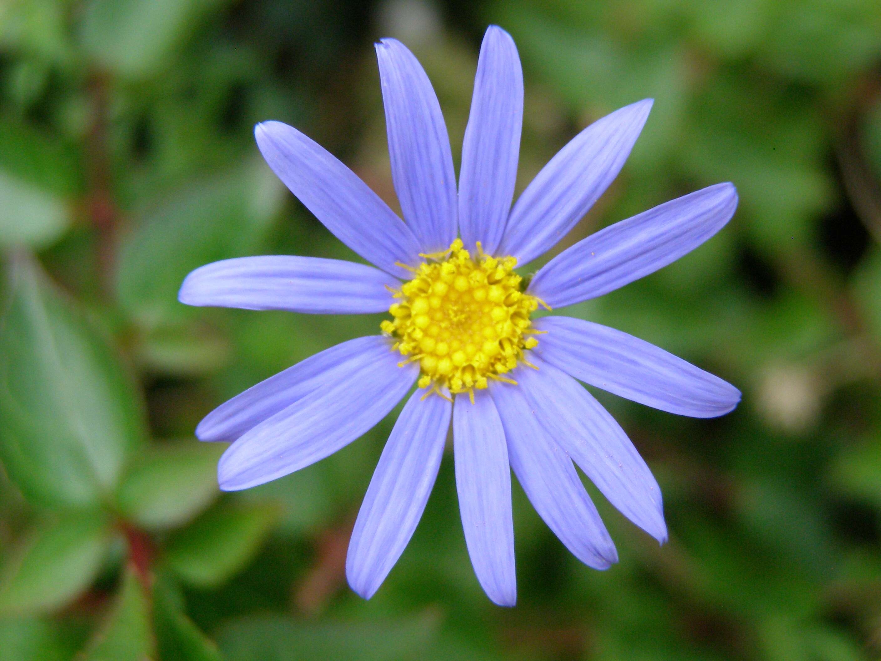
[{"label": "blurred green foliage background surrounding the purple flower", "polygon": [[[196,423],[381,316],[186,308],[259,254],[350,257],[274,178],[292,123],[398,208],[373,42],[426,68],[458,161],[478,48],[515,38],[518,189],[596,118],[655,107],[565,247],[715,182],[728,227],[568,312],[744,391],[690,420],[596,393],[655,472],[670,543],[596,494],[582,566],[515,485],[519,605],[470,568],[452,456],[378,594],[354,517],[396,412],[333,457],[220,494]],[[881,11],[876,0],[0,0],[0,656],[881,657]]]}]

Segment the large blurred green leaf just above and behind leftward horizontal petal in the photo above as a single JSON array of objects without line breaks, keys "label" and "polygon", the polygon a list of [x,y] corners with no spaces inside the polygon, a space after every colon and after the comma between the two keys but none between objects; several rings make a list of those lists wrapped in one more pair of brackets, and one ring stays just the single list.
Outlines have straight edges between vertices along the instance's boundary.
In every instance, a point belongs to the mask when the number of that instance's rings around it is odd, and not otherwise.
[{"label": "large blurred green leaf just above and behind leftward horizontal petal", "polygon": [[119,256],[123,307],[147,330],[188,314],[177,301],[183,279],[203,264],[254,250],[278,211],[281,190],[268,167],[252,162],[137,213]]}]

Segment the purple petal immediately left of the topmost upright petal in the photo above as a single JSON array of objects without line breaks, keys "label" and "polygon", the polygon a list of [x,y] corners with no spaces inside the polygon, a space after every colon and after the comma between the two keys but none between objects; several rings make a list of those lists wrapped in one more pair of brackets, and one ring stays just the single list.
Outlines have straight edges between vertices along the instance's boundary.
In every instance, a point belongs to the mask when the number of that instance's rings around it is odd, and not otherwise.
[{"label": "purple petal immediately left of the topmost upright petal", "polygon": [[391,176],[403,218],[423,252],[448,249],[456,234],[453,156],[431,82],[400,41],[376,44],[389,132]]}]

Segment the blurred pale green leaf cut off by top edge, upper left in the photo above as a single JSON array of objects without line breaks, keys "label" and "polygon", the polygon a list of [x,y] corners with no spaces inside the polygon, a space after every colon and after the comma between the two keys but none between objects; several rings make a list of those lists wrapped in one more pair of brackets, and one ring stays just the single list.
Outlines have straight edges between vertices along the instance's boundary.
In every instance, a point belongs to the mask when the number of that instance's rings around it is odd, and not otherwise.
[{"label": "blurred pale green leaf cut off by top edge, upper left", "polygon": [[224,0],[91,0],[80,39],[103,66],[141,78],[167,66],[167,56]]}]

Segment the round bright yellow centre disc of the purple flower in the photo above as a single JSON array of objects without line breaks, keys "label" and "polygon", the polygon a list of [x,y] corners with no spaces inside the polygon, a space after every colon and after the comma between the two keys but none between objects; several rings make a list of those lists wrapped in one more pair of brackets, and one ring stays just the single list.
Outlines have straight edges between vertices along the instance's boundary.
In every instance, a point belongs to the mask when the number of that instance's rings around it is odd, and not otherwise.
[{"label": "round bright yellow centre disc of the purple flower", "polygon": [[456,239],[444,252],[422,255],[426,262],[395,292],[392,320],[381,323],[395,338],[393,350],[418,360],[419,388],[441,387],[451,394],[484,389],[505,377],[538,344],[529,315],[541,301],[521,291],[515,257],[471,257]]}]

